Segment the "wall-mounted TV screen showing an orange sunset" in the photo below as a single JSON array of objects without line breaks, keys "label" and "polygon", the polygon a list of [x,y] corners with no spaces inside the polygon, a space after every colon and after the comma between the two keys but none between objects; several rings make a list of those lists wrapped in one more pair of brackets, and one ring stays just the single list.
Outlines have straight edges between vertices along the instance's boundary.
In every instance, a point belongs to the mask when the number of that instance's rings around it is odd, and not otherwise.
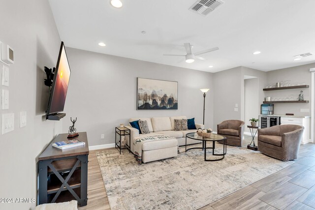
[{"label": "wall-mounted TV screen showing an orange sunset", "polygon": [[47,114],[62,112],[70,79],[70,66],[62,42]]}]

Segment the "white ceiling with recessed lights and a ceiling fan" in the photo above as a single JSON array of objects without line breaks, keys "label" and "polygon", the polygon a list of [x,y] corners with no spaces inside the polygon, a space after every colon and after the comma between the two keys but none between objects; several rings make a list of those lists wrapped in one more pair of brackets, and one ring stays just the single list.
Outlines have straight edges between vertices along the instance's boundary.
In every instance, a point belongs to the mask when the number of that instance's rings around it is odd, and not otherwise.
[{"label": "white ceiling with recessed lights and a ceiling fan", "polygon": [[[61,39],[72,48],[208,72],[315,62],[315,55],[293,61],[295,55],[315,54],[315,0],[224,0],[207,16],[188,10],[195,0],[122,0],[120,9],[110,0],[49,1]],[[185,42],[193,52],[220,50],[193,63],[163,56],[185,55]]]}]

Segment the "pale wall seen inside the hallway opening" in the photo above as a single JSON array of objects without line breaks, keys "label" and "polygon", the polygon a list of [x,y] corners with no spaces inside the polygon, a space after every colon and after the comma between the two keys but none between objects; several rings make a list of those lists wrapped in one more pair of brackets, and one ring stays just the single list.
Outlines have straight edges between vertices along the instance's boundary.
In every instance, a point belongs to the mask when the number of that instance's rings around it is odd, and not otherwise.
[{"label": "pale wall seen inside the hallway opening", "polygon": [[258,119],[259,115],[259,106],[257,106],[257,102],[259,103],[259,96],[257,94],[258,91],[258,80],[259,78],[252,78],[244,80],[245,87],[245,95],[244,95],[244,109],[245,109],[245,132],[250,132],[250,129],[247,128],[247,125],[250,125],[249,119],[256,118]]}]

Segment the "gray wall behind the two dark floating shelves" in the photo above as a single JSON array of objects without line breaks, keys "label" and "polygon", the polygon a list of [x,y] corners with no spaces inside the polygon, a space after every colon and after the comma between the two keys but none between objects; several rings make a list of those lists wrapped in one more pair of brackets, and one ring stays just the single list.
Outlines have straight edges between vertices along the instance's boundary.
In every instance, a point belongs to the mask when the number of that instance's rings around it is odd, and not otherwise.
[{"label": "gray wall behind the two dark floating shelves", "polygon": [[[276,84],[276,82],[290,80],[290,83],[303,83],[310,85],[310,88],[306,89],[291,89],[291,90],[275,90],[275,91],[264,91],[265,96],[271,97],[286,97],[294,95],[296,99],[300,94],[300,90],[303,90],[304,100],[311,102],[311,72],[310,68],[314,68],[315,63],[295,66],[291,68],[284,68],[275,71],[267,72],[267,83]],[[294,113],[294,115],[310,116],[311,115],[311,103],[276,103],[274,106],[275,114]],[[310,112],[300,112],[300,109],[309,109]]]}]

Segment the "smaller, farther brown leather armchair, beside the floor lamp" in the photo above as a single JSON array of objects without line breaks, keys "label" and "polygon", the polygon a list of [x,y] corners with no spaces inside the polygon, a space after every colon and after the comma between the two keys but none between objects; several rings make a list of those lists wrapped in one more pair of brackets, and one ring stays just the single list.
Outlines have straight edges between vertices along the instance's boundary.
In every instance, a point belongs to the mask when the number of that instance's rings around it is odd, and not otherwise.
[{"label": "smaller, farther brown leather armchair, beside the floor lamp", "polygon": [[244,124],[242,120],[225,120],[217,125],[217,133],[226,137],[226,144],[242,146]]}]

